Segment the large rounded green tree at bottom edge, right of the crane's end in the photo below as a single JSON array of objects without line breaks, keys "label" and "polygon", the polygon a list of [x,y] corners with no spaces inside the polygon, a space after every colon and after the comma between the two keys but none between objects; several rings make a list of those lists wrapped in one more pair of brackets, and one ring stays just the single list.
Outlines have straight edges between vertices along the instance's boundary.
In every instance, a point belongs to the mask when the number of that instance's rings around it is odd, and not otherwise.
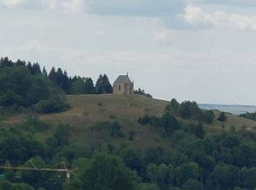
[{"label": "large rounded green tree at bottom edge, right of the crane's end", "polygon": [[132,190],[137,184],[131,172],[117,156],[97,153],[79,174],[83,189]]}]

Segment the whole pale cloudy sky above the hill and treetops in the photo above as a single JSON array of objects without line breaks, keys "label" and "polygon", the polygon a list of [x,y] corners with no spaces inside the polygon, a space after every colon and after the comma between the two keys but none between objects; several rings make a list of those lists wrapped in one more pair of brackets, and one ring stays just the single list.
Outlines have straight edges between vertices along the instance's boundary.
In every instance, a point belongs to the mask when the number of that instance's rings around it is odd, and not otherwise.
[{"label": "whole pale cloudy sky above the hill and treetops", "polygon": [[256,105],[255,0],[0,0],[0,57],[154,98]]}]

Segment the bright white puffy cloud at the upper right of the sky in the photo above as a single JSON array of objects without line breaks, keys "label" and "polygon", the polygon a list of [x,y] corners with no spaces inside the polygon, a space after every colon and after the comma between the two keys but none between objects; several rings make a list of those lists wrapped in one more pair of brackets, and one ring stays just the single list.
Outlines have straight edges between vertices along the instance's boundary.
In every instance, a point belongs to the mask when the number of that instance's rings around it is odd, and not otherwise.
[{"label": "bright white puffy cloud at the upper right of the sky", "polygon": [[239,31],[256,31],[256,15],[227,14],[217,10],[206,13],[200,7],[189,5],[185,9],[184,20],[195,26],[201,24],[233,28]]}]

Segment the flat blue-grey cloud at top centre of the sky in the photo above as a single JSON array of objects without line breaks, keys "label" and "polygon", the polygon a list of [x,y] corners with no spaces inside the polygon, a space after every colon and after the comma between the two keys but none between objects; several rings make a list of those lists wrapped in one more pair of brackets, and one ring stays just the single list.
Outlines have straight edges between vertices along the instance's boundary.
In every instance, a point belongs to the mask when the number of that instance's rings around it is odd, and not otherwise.
[{"label": "flat blue-grey cloud at top centre of the sky", "polygon": [[89,11],[99,15],[163,16],[184,11],[185,0],[87,0]]}]

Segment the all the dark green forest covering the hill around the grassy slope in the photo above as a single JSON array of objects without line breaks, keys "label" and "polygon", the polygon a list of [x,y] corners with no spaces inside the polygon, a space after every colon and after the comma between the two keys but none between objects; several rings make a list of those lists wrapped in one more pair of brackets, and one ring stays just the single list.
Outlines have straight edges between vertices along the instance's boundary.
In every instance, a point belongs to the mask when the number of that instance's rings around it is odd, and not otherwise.
[{"label": "all the dark green forest covering the hill around the grassy slope", "polygon": [[[84,88],[86,87],[86,88]],[[141,90],[140,90],[141,91]],[[91,78],[68,77],[61,69],[49,75],[39,64],[0,60],[1,113],[28,111],[25,121],[0,127],[0,165],[37,168],[65,161],[78,167],[78,175],[65,173],[0,170],[0,189],[85,189],[85,190],[226,190],[256,188],[256,135],[242,127],[236,130],[207,130],[214,118],[225,126],[225,113],[201,110],[196,102],[172,99],[162,115],[138,115],[140,127],[151,130],[171,146],[152,146],[139,151],[127,145],[90,146],[70,141],[72,126],[59,123],[51,128],[37,117],[39,113],[60,112],[69,108],[64,94],[106,94],[112,88],[107,75],[99,75],[94,86]],[[142,91],[141,91],[142,92]],[[146,94],[144,92],[144,94]],[[143,95],[143,94],[142,94]],[[135,106],[135,105],[132,105]],[[131,106],[131,107],[132,107]],[[101,107],[101,105],[98,105]],[[110,140],[129,140],[121,123],[112,115],[99,122],[91,133],[102,132]]]}]

